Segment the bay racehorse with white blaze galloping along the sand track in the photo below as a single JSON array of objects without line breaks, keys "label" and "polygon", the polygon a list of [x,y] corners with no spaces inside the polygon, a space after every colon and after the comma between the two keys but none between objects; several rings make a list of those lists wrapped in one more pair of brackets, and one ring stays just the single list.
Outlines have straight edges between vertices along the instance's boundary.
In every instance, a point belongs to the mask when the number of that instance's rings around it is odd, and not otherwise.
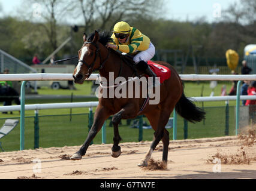
[{"label": "bay racehorse with white blaze galloping along the sand track", "polygon": [[[109,82],[109,73],[114,73],[114,78],[122,76],[128,80],[129,77],[137,75],[143,75],[142,72],[135,69],[132,64],[129,64],[126,58],[122,54],[115,50],[106,48],[107,42],[110,41],[110,34],[106,31],[97,32],[89,35],[88,37],[84,33],[83,45],[79,50],[79,61],[74,69],[73,78],[77,84],[83,84],[86,78],[89,78],[92,72],[98,70],[100,76],[107,79]],[[165,129],[165,125],[168,122],[171,112],[174,107],[177,113],[190,122],[199,122],[204,119],[204,111],[196,107],[191,100],[185,97],[183,93],[183,84],[178,73],[174,68],[164,61],[154,61],[155,63],[161,64],[162,66],[168,67],[171,70],[171,76],[162,84],[159,88],[160,100],[158,104],[147,104],[146,107],[141,111],[141,105],[143,105],[145,98],[106,98],[100,97],[98,106],[95,110],[94,124],[88,133],[88,137],[83,143],[82,147],[71,156],[72,160],[82,159],[85,155],[89,144],[101,130],[104,121],[113,115],[113,147],[112,156],[118,157],[121,155],[121,147],[118,146],[121,141],[119,135],[118,125],[121,119],[133,119],[137,115],[145,115],[149,120],[155,133],[153,134],[153,141],[150,145],[146,156],[138,164],[139,167],[146,167],[149,159],[151,158],[152,152],[158,145],[159,141],[162,140],[163,152],[162,162],[167,166],[168,156],[168,145],[169,145],[169,133]],[[124,64],[125,63],[125,64]],[[133,66],[133,67],[132,67]],[[100,88],[99,91],[102,91]],[[137,90],[135,90],[137,91]]]}]

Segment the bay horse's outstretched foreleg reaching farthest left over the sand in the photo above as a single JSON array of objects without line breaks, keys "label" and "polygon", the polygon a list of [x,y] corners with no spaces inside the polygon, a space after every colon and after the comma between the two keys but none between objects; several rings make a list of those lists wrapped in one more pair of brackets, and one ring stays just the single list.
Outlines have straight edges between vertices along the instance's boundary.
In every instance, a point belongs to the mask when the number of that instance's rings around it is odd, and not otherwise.
[{"label": "bay horse's outstretched foreleg reaching farthest left over the sand", "polygon": [[85,155],[90,143],[92,142],[98,131],[101,130],[101,127],[103,126],[104,121],[107,118],[109,118],[109,114],[107,113],[106,109],[104,109],[104,107],[97,107],[97,110],[95,111],[94,115],[94,124],[92,125],[92,128],[89,131],[88,137],[86,138],[85,143],[83,143],[82,147],[80,147],[79,151],[77,151],[76,153],[74,153],[73,156],[71,156],[71,160],[82,159],[82,156]]}]

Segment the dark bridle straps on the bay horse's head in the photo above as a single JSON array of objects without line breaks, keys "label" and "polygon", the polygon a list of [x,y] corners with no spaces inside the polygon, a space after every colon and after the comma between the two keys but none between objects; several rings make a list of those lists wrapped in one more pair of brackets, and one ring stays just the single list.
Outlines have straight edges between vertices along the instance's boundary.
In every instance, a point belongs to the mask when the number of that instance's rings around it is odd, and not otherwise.
[{"label": "dark bridle straps on the bay horse's head", "polygon": [[[86,61],[83,61],[83,60],[79,60],[78,63],[81,61],[83,64],[85,64],[85,66],[88,67],[88,73],[86,73],[86,75],[91,75],[92,72],[95,72],[97,70],[101,70],[103,69],[104,67],[104,64],[106,63],[106,61],[109,59],[109,56],[110,56],[110,49],[109,49],[109,53],[107,54],[107,58],[102,61],[102,58],[101,58],[101,51],[100,51],[100,48],[98,47],[98,45],[95,43],[95,42],[91,42],[91,41],[86,41],[84,44],[92,44],[96,47],[96,51],[95,51],[95,57],[94,57],[94,61],[91,63],[91,64],[88,64],[86,63]],[[100,56],[100,66],[96,69],[94,69],[94,64],[95,64],[95,61],[97,59],[97,55],[99,54]]]}]

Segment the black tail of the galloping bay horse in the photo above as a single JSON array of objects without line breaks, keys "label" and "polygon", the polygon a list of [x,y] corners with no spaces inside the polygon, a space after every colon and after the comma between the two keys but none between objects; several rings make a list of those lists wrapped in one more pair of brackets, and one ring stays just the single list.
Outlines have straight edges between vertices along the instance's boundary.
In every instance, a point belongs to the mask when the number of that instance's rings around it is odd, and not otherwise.
[{"label": "black tail of the galloping bay horse", "polygon": [[182,118],[195,123],[204,119],[204,115],[206,114],[201,108],[195,106],[191,100],[186,98],[184,93],[180,97],[179,101],[175,106],[176,112],[182,116]]}]

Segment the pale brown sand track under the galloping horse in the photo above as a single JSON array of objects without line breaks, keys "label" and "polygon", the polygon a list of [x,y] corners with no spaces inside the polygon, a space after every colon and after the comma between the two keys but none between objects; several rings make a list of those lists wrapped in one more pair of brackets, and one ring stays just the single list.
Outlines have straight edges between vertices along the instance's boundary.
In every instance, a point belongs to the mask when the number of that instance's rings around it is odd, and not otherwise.
[{"label": "pale brown sand track under the galloping horse", "polygon": [[[246,151],[249,164],[221,164],[221,172],[213,172],[216,164],[210,159],[216,153],[236,156],[239,137],[170,141],[166,170],[137,167],[150,143],[121,143],[119,158],[110,155],[112,144],[93,144],[80,161],[69,160],[80,146],[1,152],[0,178],[256,178],[255,144]],[[161,160],[161,150],[160,142],[152,154],[155,161]]]}]

